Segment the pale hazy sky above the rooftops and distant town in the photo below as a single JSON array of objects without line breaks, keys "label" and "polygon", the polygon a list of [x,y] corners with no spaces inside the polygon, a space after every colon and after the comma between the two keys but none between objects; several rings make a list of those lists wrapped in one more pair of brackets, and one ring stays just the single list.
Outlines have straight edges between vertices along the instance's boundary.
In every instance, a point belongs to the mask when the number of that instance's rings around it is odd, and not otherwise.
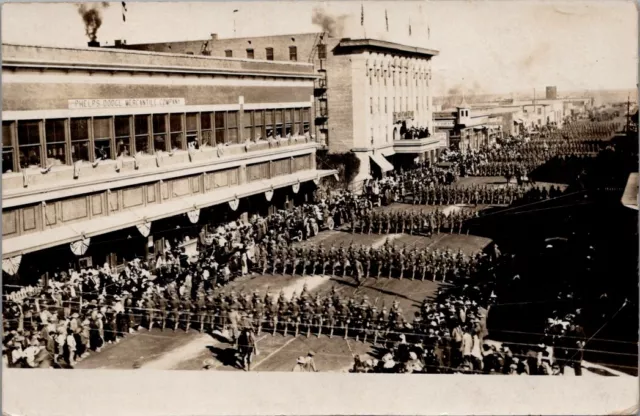
[{"label": "pale hazy sky above the rooftops and distant town", "polygon": [[[4,4],[2,41],[85,47],[78,5]],[[341,23],[343,37],[438,50],[432,65],[435,95],[542,92],[547,85],[561,94],[634,89],[638,83],[633,1],[127,2],[126,22],[121,3],[98,5],[93,3],[102,15],[97,36],[103,45],[115,39],[201,40],[211,33],[226,38],[317,32],[321,27],[313,15],[320,10]]]}]

